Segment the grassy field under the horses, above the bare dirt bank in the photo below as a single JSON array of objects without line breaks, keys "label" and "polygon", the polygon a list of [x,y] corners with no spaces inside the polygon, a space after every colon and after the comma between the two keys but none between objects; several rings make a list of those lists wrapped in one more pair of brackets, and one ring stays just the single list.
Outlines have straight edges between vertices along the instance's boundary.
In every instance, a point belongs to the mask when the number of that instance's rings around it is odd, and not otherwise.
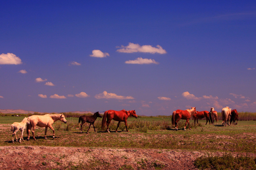
[{"label": "grassy field under the horses, above the bare dirt bank", "polygon": [[[238,121],[238,125],[221,126],[204,125],[205,120],[201,120],[200,125],[193,125],[192,130],[182,130],[184,121],[181,121],[179,130],[175,131],[170,125],[170,118],[129,118],[128,129],[130,132],[122,131],[124,122],[118,132],[113,132],[116,122],[112,124],[112,132],[106,133],[100,128],[101,119],[97,119],[95,133],[93,127],[89,134],[80,133],[78,118],[67,118],[68,123],[60,121],[53,124],[55,129],[55,139],[52,138],[52,130],[48,129],[47,139],[44,140],[44,128],[36,127],[36,141],[30,138],[29,141],[11,143],[11,124],[21,122],[24,117],[4,116],[0,117],[0,145],[43,145],[43,146],[74,146],[74,147],[110,147],[110,148],[154,148],[154,149],[185,149],[191,151],[209,152],[244,152],[256,153],[256,121]],[[139,122],[139,123],[138,123]],[[167,129],[161,128],[159,124],[167,124]],[[183,124],[182,124],[183,123]],[[139,125],[138,125],[139,124]],[[144,125],[144,127],[143,127]],[[150,127],[143,132],[141,129]],[[83,131],[88,129],[88,123],[83,127]],[[150,130],[154,129],[154,130]],[[31,133],[32,135],[32,133]],[[18,132],[20,137],[20,132]],[[24,133],[24,139],[27,134]]]}]

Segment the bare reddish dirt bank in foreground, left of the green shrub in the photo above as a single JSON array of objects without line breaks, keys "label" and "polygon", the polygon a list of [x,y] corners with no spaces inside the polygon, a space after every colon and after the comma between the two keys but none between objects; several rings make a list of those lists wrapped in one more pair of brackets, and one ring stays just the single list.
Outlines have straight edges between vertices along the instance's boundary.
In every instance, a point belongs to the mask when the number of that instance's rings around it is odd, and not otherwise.
[{"label": "bare reddish dirt bank in foreground, left of the green shrub", "polygon": [[196,169],[183,150],[0,146],[0,169]]}]

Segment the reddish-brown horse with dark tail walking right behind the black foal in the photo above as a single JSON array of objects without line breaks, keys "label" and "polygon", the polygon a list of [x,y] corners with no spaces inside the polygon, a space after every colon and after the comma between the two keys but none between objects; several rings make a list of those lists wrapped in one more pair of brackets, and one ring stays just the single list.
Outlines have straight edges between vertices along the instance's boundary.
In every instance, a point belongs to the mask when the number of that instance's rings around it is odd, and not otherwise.
[{"label": "reddish-brown horse with dark tail walking right behind the black foal", "polygon": [[[126,127],[126,132],[129,132],[129,130],[127,129],[127,118],[128,117],[135,117],[136,119],[138,118],[138,116],[136,115],[135,110],[120,110],[120,111],[116,111],[116,110],[107,110],[104,115],[103,115],[103,119],[102,119],[102,123],[101,123],[101,129],[103,129],[105,127],[105,125],[107,124],[107,132],[109,133],[108,130],[108,125],[110,124],[111,120],[113,119],[114,121],[118,121],[117,127],[116,127],[116,132],[117,132],[117,128],[119,127],[120,122],[124,122],[125,127]],[[107,119],[107,121],[106,121]]]}]

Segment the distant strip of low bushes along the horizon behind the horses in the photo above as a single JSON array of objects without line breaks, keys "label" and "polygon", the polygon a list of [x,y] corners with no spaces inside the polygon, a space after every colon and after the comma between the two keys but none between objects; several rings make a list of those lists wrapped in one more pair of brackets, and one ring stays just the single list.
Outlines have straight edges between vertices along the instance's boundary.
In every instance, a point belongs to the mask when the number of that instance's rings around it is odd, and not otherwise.
[{"label": "distant strip of low bushes along the horizon behind the horses", "polygon": [[[0,113],[0,116],[12,116],[12,115],[20,115],[20,116],[31,116],[31,115],[45,115],[45,114],[54,114],[54,113],[38,113],[38,112],[34,112],[34,114],[32,113],[28,113],[28,114],[12,114],[12,113]],[[91,116],[92,113],[88,113],[88,114],[79,114],[79,113],[72,113],[72,112],[68,112],[68,113],[62,113],[65,115],[65,117],[79,117],[81,115],[87,115],[87,116]],[[238,112],[238,121],[256,121],[256,113],[252,113],[252,112]],[[158,115],[158,116],[140,116],[138,115],[139,118],[144,118],[144,117],[160,117],[160,118],[172,118],[172,115],[166,116],[166,115]],[[193,119],[193,117],[191,117],[191,119]],[[203,118],[202,120],[205,120],[205,118]],[[222,120],[222,116],[221,113],[218,113],[218,120]]]}]

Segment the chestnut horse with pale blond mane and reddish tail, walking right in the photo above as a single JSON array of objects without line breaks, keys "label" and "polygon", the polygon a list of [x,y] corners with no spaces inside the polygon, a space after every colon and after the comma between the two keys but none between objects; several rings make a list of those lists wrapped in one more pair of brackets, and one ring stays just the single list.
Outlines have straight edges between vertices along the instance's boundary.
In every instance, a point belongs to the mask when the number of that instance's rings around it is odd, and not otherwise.
[{"label": "chestnut horse with pale blond mane and reddish tail, walking right", "polygon": [[194,115],[194,114],[196,114],[196,107],[191,107],[191,109],[187,109],[187,110],[175,110],[172,113],[172,125],[174,125],[175,129],[178,130],[177,123],[180,121],[180,119],[185,119],[186,123],[185,123],[184,130],[186,130],[187,123],[188,123],[189,129],[191,130],[189,125],[189,119],[191,115]]}]

